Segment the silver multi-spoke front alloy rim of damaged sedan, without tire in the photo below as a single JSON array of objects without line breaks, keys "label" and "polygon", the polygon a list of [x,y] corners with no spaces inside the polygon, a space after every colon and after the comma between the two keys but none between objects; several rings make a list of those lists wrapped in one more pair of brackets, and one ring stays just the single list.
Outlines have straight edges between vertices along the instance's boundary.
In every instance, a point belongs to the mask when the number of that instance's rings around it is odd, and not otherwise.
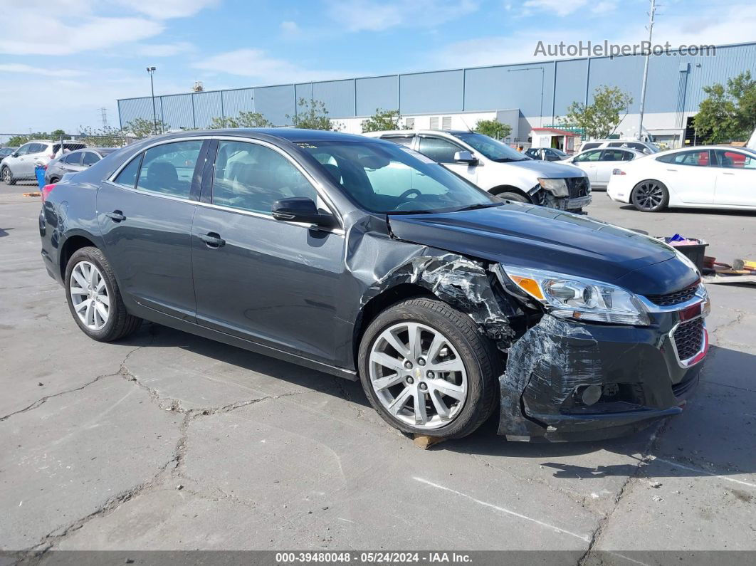
[{"label": "silver multi-spoke front alloy rim of damaged sedan, without tire", "polygon": [[414,322],[389,326],[373,342],[370,385],[396,419],[428,430],[453,421],[467,397],[456,348],[442,332]]}]

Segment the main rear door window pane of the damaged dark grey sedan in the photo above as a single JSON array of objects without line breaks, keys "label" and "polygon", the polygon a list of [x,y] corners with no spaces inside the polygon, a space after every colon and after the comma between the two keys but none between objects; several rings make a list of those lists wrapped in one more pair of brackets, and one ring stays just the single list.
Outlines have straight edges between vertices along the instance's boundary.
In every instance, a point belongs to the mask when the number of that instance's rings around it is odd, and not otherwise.
[{"label": "main rear door window pane of the damaged dark grey sedan", "polygon": [[137,188],[188,199],[202,140],[175,141],[144,152]]}]

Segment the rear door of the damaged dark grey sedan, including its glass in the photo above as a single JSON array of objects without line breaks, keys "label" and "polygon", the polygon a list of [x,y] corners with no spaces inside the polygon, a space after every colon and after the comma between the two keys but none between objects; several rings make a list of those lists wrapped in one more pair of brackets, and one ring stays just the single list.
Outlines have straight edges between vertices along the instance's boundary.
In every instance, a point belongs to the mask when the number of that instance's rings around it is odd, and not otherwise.
[{"label": "rear door of the damaged dark grey sedan, including its glass", "polygon": [[195,320],[191,223],[200,195],[203,140],[138,154],[97,196],[98,222],[125,298]]}]

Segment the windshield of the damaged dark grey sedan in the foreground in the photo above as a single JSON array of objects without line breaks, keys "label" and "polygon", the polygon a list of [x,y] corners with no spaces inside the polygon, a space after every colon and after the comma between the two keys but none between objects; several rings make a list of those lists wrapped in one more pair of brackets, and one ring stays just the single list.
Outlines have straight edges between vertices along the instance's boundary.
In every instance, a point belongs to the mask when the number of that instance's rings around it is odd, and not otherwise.
[{"label": "windshield of the damaged dark grey sedan in the foreground", "polygon": [[381,141],[307,141],[310,153],[360,206],[381,214],[453,212],[501,201],[407,147]]}]

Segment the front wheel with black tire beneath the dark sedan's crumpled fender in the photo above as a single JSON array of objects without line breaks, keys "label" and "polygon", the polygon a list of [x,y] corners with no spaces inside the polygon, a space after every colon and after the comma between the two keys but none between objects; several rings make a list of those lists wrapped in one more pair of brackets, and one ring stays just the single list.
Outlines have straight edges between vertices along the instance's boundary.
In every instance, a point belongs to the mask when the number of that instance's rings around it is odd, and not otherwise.
[{"label": "front wheel with black tire beneath the dark sedan's crumpled fender", "polygon": [[383,311],[358,355],[370,404],[401,431],[461,438],[496,408],[500,355],[476,323],[444,302],[414,298]]}]

